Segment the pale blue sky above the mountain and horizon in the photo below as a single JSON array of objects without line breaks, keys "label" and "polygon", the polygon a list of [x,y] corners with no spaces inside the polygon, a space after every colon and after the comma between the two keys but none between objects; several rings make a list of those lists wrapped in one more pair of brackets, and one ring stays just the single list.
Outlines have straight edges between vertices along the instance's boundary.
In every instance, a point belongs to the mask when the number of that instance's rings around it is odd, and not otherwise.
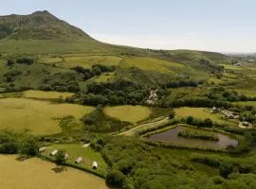
[{"label": "pale blue sky above the mountain and horizon", "polygon": [[44,9],[106,43],[256,52],[255,0],[8,0],[0,14]]}]

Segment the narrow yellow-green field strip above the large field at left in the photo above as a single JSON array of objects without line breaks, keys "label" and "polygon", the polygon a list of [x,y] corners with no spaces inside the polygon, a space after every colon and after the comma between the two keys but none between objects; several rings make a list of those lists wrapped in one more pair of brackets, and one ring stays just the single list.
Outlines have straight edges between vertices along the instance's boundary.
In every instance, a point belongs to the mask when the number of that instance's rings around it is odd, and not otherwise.
[{"label": "narrow yellow-green field strip above the large field at left", "polygon": [[43,92],[43,91],[36,91],[36,90],[29,90],[23,92],[23,97],[27,98],[37,98],[37,99],[58,99],[60,97],[66,98],[70,97],[74,94],[67,93],[67,92]]}]

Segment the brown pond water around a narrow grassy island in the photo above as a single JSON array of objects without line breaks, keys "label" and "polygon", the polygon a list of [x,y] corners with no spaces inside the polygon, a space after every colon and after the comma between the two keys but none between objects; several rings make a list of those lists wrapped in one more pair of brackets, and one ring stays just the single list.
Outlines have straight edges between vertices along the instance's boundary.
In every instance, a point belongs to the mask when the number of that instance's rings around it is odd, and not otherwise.
[{"label": "brown pond water around a narrow grassy island", "polygon": [[[148,137],[151,142],[172,142],[182,146],[199,146],[199,147],[210,147],[210,148],[225,148],[227,146],[237,146],[238,141],[219,132],[215,132],[219,138],[219,141],[208,141],[201,139],[187,139],[179,137],[178,132],[185,129],[183,126],[178,126],[174,129],[159,132]],[[206,130],[206,129],[204,129]]]}]

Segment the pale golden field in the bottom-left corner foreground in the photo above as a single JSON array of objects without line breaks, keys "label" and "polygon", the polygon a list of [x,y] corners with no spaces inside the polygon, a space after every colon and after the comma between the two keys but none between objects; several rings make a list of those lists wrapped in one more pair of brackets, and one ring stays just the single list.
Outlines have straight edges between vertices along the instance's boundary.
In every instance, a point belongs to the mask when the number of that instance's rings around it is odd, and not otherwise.
[{"label": "pale golden field in the bottom-left corner foreground", "polygon": [[67,167],[56,173],[56,164],[31,158],[25,162],[17,156],[0,155],[0,188],[3,189],[106,189],[105,180]]}]

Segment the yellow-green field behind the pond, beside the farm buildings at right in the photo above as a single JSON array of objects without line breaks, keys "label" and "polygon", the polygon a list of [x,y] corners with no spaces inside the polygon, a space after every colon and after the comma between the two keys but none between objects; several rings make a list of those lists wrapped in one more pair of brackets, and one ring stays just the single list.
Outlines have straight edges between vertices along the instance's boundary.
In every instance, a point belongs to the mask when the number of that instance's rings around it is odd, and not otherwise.
[{"label": "yellow-green field behind the pond, beside the farm buildings at right", "polygon": [[210,109],[182,107],[182,108],[175,109],[174,112],[176,113],[176,116],[180,116],[180,117],[193,116],[198,119],[210,118],[212,121],[217,123],[234,124],[228,120],[222,119],[221,115],[218,113],[211,113]]}]

